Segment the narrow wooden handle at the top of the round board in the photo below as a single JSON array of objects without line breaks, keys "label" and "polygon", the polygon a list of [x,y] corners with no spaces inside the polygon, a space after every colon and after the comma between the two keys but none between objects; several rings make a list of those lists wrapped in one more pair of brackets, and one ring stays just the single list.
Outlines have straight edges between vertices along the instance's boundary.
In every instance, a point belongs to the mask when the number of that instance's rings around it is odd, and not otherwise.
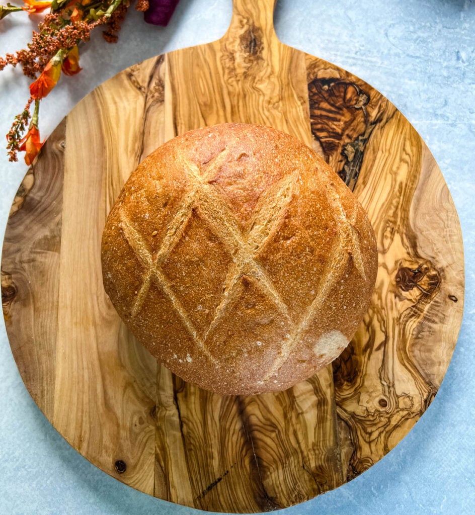
[{"label": "narrow wooden handle at the top of the round board", "polygon": [[277,41],[274,30],[274,8],[277,0],[233,0],[232,18],[223,40],[235,39],[236,34],[247,27],[249,33],[249,53],[256,46],[256,41]]}]

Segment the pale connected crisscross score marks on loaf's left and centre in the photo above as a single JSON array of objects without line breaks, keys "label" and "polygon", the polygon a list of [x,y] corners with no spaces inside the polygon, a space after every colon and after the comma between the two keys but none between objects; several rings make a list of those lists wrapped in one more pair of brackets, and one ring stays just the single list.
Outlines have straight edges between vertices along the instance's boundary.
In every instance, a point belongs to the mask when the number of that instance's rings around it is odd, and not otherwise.
[{"label": "pale connected crisscross score marks on loaf's left and centre", "polygon": [[[183,170],[188,174],[188,177],[193,184],[192,192],[185,199],[183,207],[175,215],[175,218],[163,239],[163,244],[156,253],[156,256],[151,255],[140,233],[132,227],[124,213],[121,213],[120,227],[124,232],[125,238],[137,254],[139,260],[142,261],[143,265],[148,270],[147,274],[143,277],[142,286],[138,292],[137,299],[133,304],[131,311],[132,317],[137,315],[140,311],[140,308],[145,301],[150,281],[155,280],[172,300],[180,318],[185,324],[185,327],[190,331],[190,334],[193,336],[196,343],[202,347],[205,352],[206,347],[204,343],[206,336],[214,325],[219,322],[219,319],[231,298],[230,293],[233,285],[246,273],[253,274],[255,277],[258,277],[259,281],[267,289],[267,294],[274,300],[279,310],[285,316],[289,316],[287,306],[280,298],[280,295],[276,291],[272,281],[268,278],[268,274],[265,269],[258,263],[258,261],[256,261],[255,254],[265,243],[265,239],[269,234],[272,234],[281,223],[282,217],[285,214],[284,208],[286,201],[290,195],[292,183],[296,180],[296,176],[285,177],[277,184],[278,187],[275,188],[275,195],[266,196],[266,203],[261,205],[261,209],[257,212],[257,216],[251,225],[249,233],[244,236],[239,226],[236,224],[234,216],[230,212],[228,205],[222,198],[216,195],[215,188],[208,183],[208,178],[211,176],[210,170],[216,169],[217,166],[219,166],[219,163],[222,163],[228,157],[229,151],[225,149],[207,163],[206,166],[201,167],[201,169],[199,169],[196,164],[184,159],[185,166]],[[220,237],[228,252],[230,254],[235,254],[233,265],[229,268],[223,287],[222,301],[220,301],[219,305],[216,307],[213,320],[202,337],[200,337],[199,331],[193,327],[193,324],[186,316],[185,310],[174,295],[173,290],[170,288],[166,277],[160,269],[160,264],[165,261],[169,253],[181,238],[183,229],[188,222],[193,209],[199,209],[200,218],[205,219],[210,223],[213,231]],[[259,224],[259,214],[262,211],[265,211],[267,216],[270,215],[270,217],[266,218],[264,225]]]}]

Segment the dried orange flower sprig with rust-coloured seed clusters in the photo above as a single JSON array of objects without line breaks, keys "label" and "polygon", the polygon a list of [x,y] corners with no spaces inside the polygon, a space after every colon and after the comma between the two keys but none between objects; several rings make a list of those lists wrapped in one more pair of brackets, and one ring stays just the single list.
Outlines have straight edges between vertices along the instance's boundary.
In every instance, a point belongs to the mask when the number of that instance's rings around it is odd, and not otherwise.
[{"label": "dried orange flower sprig with rust-coloured seed clusters", "polygon": [[[24,110],[15,116],[7,134],[10,161],[18,160],[18,151],[25,152],[28,165],[35,161],[42,146],[38,126],[40,100],[53,90],[61,74],[75,75],[81,71],[78,45],[89,40],[91,30],[104,25],[106,41],[117,41],[117,32],[129,5],[130,0],[24,0],[22,7],[9,3],[0,6],[0,20],[16,11],[39,13],[50,10],[38,25],[38,30],[33,31],[27,49],[0,57],[0,70],[7,65],[20,64],[23,73],[35,79],[30,84],[30,96]],[[136,7],[145,11],[148,0],[139,0]],[[31,116],[33,102],[35,109]]]}]

